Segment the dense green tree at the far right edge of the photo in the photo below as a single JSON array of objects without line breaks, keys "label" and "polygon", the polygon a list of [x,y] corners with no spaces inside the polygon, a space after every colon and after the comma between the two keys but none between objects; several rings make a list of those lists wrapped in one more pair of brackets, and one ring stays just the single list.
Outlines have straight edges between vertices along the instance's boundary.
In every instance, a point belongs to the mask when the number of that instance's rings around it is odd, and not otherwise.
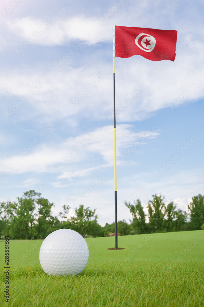
[{"label": "dense green tree at the far right edge of the photo", "polygon": [[192,230],[200,230],[204,223],[204,196],[192,197],[192,202],[188,204],[190,210],[190,224]]}]

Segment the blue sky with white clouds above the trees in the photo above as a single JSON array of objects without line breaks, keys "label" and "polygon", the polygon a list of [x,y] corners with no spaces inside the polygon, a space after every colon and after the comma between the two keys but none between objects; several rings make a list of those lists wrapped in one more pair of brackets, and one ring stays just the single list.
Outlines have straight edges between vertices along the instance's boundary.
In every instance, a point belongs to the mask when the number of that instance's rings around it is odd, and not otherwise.
[{"label": "blue sky with white clouds above the trees", "polygon": [[[203,1],[2,0],[1,200],[114,221],[113,24],[177,30],[175,61],[115,58],[118,220],[203,195]],[[116,47],[117,48],[117,47]]]}]

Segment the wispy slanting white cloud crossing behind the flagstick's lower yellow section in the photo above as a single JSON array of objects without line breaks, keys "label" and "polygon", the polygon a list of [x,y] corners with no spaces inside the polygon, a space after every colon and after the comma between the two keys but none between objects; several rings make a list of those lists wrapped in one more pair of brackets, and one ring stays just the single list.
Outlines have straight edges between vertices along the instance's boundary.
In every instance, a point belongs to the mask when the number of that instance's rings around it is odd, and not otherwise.
[{"label": "wispy slanting white cloud crossing behind the flagstick's lower yellow section", "polygon": [[[156,131],[134,133],[131,131],[132,127],[132,125],[126,124],[117,126],[117,155],[120,154],[121,149],[128,148],[132,143],[139,141],[140,138],[141,141],[138,143],[141,145],[144,144],[143,140],[151,140],[159,135]],[[86,161],[89,157],[88,152],[98,153],[103,157],[103,161],[107,162],[107,165],[98,165],[96,167],[72,171],[73,163],[75,163],[74,167],[76,169],[76,163]],[[31,152],[28,150],[23,155],[23,151],[20,151],[20,153],[18,156],[2,158],[1,165],[4,173],[59,173],[63,171],[64,166],[69,166],[70,170],[63,172],[59,178],[71,179],[72,177],[87,176],[94,169],[113,165],[113,127],[105,126],[89,134],[81,134],[75,138],[68,138],[65,142],[58,144],[58,146],[55,144],[38,145],[36,143]]]}]

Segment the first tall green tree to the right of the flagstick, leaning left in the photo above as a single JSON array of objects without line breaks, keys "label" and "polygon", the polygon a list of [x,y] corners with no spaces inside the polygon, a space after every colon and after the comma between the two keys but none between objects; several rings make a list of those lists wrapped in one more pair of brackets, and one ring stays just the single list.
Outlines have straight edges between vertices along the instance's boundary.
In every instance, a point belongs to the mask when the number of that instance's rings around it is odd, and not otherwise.
[{"label": "first tall green tree to the right of the flagstick, leaning left", "polygon": [[143,207],[141,205],[141,201],[137,199],[134,200],[133,204],[125,201],[125,206],[130,209],[132,213],[132,227],[136,231],[137,234],[145,234],[147,233],[147,225],[145,223],[146,214],[143,211]]}]

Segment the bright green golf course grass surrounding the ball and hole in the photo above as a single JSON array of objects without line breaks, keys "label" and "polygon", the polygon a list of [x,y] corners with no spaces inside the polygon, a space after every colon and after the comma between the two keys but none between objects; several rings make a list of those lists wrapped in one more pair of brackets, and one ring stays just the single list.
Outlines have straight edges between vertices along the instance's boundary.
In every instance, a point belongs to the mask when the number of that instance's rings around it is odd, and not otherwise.
[{"label": "bright green golf course grass surrounding the ball and hole", "polygon": [[[33,307],[202,307],[204,231],[87,238],[89,261],[78,276],[49,276],[39,263],[43,240],[10,241],[9,304]],[[4,241],[0,242],[4,260]],[[3,263],[3,262],[2,262]]]}]

